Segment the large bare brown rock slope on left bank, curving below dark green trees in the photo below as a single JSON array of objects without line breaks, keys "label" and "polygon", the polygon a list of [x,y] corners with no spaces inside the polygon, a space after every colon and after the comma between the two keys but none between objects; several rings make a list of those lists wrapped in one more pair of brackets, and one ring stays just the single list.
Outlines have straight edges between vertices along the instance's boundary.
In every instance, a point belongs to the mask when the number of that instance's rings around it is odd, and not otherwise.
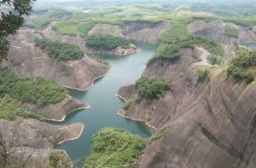
[{"label": "large bare brown rock slope on left bank, curving below dark green trees", "polygon": [[[8,60],[12,68],[23,77],[48,77],[67,88],[86,90],[93,85],[94,79],[108,72],[107,66],[88,56],[67,62],[51,59],[39,47],[34,46],[35,37],[40,35],[26,28],[11,39]],[[69,40],[71,39],[67,39]]]}]

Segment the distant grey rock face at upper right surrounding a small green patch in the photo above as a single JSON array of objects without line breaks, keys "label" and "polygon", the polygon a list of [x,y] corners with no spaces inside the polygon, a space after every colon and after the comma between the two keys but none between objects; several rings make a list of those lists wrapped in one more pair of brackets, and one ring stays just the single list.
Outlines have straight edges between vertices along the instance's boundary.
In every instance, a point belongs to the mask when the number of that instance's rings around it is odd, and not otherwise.
[{"label": "distant grey rock face at upper right surrounding a small green patch", "polygon": [[[232,26],[234,28],[237,28],[239,34],[238,38],[227,36],[225,34],[226,26]],[[191,34],[208,37],[222,44],[243,44],[249,42],[256,42],[256,35],[252,30],[249,30],[249,28],[237,26],[233,23],[226,23],[222,20],[213,20],[209,23],[206,23],[202,20],[197,20],[189,24],[188,30]]]}]

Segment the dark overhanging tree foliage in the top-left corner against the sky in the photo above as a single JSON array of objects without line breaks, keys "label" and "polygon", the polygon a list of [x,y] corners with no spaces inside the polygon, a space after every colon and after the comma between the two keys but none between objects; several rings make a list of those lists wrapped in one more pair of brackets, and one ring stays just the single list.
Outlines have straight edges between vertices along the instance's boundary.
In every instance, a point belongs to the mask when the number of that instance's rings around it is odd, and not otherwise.
[{"label": "dark overhanging tree foliage in the top-left corner against the sky", "polygon": [[34,1],[36,0],[0,0],[0,7],[6,7],[0,13],[0,61],[7,58],[10,47],[8,35],[17,33],[24,23],[23,16],[30,15]]}]

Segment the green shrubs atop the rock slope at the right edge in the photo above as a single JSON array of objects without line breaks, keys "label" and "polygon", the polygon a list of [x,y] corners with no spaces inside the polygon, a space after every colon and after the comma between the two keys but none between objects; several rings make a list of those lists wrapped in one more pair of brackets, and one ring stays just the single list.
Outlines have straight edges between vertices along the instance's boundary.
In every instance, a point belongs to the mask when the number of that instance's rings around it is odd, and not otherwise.
[{"label": "green shrubs atop the rock slope at the right edge", "polygon": [[237,80],[245,80],[252,83],[255,80],[256,50],[239,48],[236,57],[227,69],[229,75],[233,75]]}]

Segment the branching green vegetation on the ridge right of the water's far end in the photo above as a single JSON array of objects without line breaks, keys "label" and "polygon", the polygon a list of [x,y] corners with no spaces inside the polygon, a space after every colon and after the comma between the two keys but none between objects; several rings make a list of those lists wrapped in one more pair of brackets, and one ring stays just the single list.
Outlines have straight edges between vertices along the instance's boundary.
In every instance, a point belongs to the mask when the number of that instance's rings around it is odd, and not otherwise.
[{"label": "branching green vegetation on the ridge right of the water's far end", "polygon": [[196,46],[203,47],[208,52],[212,53],[211,62],[214,64],[219,64],[221,62],[222,56],[224,56],[224,50],[221,45],[217,44],[211,39],[206,37],[198,37],[194,35],[189,35],[187,31],[188,23],[192,22],[193,16],[182,16],[181,18],[172,17],[168,31],[165,31],[161,37],[159,37],[159,47],[157,52],[148,64],[150,64],[155,59],[162,59],[164,61],[175,61],[178,58],[178,51],[181,47],[194,48]]}]

